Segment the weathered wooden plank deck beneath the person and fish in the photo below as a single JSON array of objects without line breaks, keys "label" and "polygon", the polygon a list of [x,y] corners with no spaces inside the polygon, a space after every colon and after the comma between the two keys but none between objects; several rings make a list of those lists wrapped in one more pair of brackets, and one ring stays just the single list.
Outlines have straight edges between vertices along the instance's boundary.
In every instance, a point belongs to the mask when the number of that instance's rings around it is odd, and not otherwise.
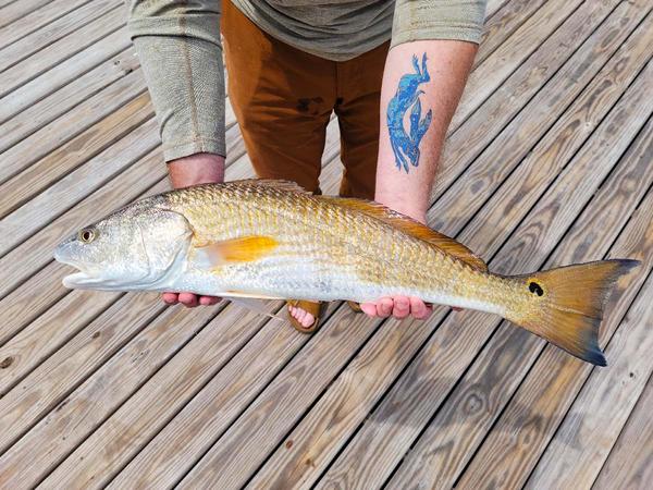
[{"label": "weathered wooden plank deck beneath the person and fish", "polygon": [[642,260],[593,368],[473,311],[305,336],[65,290],[54,244],[168,187],[156,122],[121,0],[0,0],[0,488],[651,488],[652,7],[490,0],[429,212],[502,273]]}]

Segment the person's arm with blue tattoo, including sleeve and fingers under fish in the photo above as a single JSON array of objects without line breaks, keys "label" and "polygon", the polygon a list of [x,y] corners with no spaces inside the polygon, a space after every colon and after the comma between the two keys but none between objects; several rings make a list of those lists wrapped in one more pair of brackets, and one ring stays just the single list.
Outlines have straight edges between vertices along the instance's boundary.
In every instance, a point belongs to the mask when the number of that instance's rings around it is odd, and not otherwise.
[{"label": "person's arm with blue tattoo, including sleeve and fingers under fish", "polygon": [[[422,223],[477,52],[484,7],[482,0],[397,0],[381,88],[375,200]],[[421,299],[405,296],[361,308],[370,316],[396,318],[431,313]]]}]

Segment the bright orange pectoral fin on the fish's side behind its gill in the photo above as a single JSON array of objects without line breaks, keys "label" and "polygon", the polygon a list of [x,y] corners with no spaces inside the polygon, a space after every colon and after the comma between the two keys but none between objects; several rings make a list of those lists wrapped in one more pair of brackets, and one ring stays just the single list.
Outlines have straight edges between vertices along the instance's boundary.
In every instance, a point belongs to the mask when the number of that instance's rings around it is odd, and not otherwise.
[{"label": "bright orange pectoral fin on the fish's side behind its gill", "polygon": [[202,242],[196,245],[208,267],[223,264],[250,262],[269,255],[279,243],[271,236],[242,236],[221,242]]}]

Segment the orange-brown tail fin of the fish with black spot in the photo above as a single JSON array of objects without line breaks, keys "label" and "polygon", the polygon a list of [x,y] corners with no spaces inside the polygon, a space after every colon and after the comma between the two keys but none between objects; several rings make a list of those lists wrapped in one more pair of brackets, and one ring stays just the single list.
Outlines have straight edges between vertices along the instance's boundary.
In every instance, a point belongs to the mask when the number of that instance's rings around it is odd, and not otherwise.
[{"label": "orange-brown tail fin of the fish with black spot", "polygon": [[516,277],[529,301],[506,318],[576,357],[606,366],[599,347],[603,307],[615,282],[639,264],[600,260]]}]

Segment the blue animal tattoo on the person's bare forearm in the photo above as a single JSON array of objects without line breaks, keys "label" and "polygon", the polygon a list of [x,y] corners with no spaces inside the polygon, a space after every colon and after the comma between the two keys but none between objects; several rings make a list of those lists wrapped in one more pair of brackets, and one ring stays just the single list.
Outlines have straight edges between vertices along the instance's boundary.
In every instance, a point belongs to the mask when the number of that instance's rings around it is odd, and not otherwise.
[{"label": "blue animal tattoo on the person's bare forearm", "polygon": [[[427,53],[422,56],[421,69],[418,63],[417,56],[412,54],[412,68],[415,73],[408,73],[402,76],[397,93],[387,103],[387,131],[390,133],[390,144],[395,155],[395,163],[397,169],[402,168],[408,173],[408,160],[412,167],[419,164],[419,143],[431,124],[433,117],[431,109],[421,119],[421,102],[419,101],[420,94],[423,90],[418,90],[420,84],[431,79],[427,70]],[[404,114],[410,111],[410,132],[407,133],[404,128]]]}]

